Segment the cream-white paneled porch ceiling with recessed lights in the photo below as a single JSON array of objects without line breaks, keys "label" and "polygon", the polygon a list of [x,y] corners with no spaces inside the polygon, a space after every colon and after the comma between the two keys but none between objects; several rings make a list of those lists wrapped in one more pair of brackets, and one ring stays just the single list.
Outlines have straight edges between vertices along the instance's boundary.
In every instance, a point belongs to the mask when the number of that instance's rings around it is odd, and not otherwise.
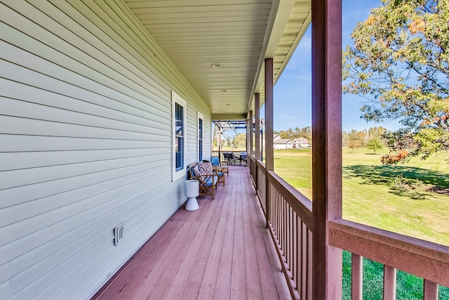
[{"label": "cream-white paneled porch ceiling with recessed lights", "polygon": [[213,119],[245,118],[255,92],[263,102],[264,58],[274,58],[276,81],[311,11],[311,0],[125,1],[210,105]]}]

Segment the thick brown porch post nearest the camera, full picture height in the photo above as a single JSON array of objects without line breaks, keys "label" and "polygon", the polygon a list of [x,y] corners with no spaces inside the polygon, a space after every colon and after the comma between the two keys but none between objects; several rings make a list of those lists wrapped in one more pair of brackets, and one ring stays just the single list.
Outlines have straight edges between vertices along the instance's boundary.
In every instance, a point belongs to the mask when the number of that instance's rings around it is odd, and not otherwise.
[{"label": "thick brown porch post nearest the camera, full picture height", "polygon": [[342,217],[342,1],[312,1],[313,299],[342,298],[342,250],[328,221]]}]

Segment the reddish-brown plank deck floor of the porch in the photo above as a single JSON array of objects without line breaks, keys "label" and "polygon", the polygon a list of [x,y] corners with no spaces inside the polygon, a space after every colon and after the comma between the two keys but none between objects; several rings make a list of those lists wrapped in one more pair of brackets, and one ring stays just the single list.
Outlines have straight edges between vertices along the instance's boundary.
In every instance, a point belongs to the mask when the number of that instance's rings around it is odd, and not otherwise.
[{"label": "reddish-brown plank deck floor of the porch", "polygon": [[93,299],[290,299],[246,167],[181,207]]}]

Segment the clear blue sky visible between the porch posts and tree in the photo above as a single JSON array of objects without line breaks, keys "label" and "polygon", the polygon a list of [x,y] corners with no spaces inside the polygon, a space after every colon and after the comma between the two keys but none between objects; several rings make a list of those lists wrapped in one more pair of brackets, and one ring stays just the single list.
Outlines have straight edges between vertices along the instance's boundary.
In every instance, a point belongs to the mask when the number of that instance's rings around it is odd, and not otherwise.
[{"label": "clear blue sky visible between the porch posts and tree", "polygon": [[[357,22],[366,20],[372,8],[381,6],[380,0],[343,0],[342,45],[352,44],[351,32]],[[360,119],[361,98],[342,96],[344,131],[383,126],[398,129],[396,122],[375,123]],[[261,116],[264,112],[261,112]],[[311,28],[297,46],[295,53],[274,86],[274,130],[311,125]]]}]

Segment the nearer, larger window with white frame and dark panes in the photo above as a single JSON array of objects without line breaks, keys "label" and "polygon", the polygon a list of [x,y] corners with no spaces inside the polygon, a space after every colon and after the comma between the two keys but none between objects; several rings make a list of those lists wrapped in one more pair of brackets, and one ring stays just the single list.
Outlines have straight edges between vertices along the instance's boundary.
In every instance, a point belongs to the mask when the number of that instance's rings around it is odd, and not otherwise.
[{"label": "nearer, larger window with white frame and dark panes", "polygon": [[172,92],[173,118],[173,176],[172,180],[186,175],[186,102],[177,93]]}]

